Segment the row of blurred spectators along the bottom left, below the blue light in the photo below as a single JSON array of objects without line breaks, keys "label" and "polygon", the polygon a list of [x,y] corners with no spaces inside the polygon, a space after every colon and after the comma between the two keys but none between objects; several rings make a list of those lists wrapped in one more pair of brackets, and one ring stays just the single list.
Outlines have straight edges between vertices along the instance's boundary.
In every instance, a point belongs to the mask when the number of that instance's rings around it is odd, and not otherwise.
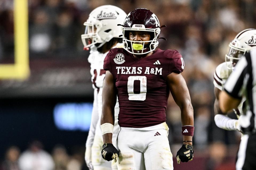
[{"label": "row of blurred spectators along the bottom left, below the blue light", "polygon": [[73,153],[68,154],[64,146],[56,145],[50,154],[43,150],[40,141],[31,142],[22,153],[17,146],[10,146],[0,170],[81,170],[85,169],[83,150],[75,148]]}]

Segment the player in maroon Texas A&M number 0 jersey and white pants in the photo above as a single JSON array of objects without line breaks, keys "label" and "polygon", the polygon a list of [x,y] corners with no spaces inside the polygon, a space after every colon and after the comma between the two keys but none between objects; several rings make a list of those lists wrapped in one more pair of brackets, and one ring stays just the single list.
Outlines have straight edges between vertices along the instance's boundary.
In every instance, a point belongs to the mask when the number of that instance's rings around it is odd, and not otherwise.
[{"label": "player in maroon Texas A&M number 0 jersey and white pants", "polygon": [[[176,50],[156,49],[160,28],[153,12],[135,9],[122,25],[124,48],[109,50],[104,60],[102,157],[115,159],[118,169],[173,169],[169,128],[165,123],[170,92],[181,109],[183,125],[183,145],[177,152],[177,162],[193,158],[193,107],[180,74],[184,61]],[[112,144],[116,96],[121,127],[117,148]]]}]

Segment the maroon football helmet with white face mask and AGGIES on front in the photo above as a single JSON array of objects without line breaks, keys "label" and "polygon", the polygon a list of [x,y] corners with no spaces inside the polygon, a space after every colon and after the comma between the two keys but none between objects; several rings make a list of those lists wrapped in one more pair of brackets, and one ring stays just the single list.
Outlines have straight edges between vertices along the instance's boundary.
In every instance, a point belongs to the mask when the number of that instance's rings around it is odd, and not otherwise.
[{"label": "maroon football helmet with white face mask and AGGIES on front", "polygon": [[[149,53],[158,46],[158,37],[160,34],[160,24],[157,16],[148,9],[138,8],[130,12],[122,25],[123,46],[128,52],[136,55]],[[130,31],[148,31],[150,41],[131,41],[129,40]],[[145,44],[149,42],[149,44]],[[141,43],[142,46],[140,45]],[[136,45],[139,47],[135,47]],[[135,46],[133,46],[135,45]]]}]

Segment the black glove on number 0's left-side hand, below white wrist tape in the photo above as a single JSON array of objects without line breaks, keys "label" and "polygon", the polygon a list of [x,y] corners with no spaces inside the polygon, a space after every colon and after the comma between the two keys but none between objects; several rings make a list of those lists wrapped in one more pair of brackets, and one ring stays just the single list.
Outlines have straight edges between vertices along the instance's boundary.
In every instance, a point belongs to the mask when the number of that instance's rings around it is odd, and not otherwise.
[{"label": "black glove on number 0's left-side hand, below white wrist tape", "polygon": [[118,150],[112,143],[104,143],[102,146],[101,156],[107,161],[115,159],[115,162],[117,162]]}]

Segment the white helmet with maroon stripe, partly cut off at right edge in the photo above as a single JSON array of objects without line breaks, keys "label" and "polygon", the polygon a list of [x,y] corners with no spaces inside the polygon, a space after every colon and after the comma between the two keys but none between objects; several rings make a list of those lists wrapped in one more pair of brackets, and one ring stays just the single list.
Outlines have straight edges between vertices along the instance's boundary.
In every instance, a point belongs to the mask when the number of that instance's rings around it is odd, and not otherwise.
[{"label": "white helmet with maroon stripe, partly cut off at right edge", "polygon": [[245,53],[256,49],[256,29],[245,29],[237,34],[235,39],[229,43],[229,53],[225,55],[228,69],[233,70],[235,64]]}]

